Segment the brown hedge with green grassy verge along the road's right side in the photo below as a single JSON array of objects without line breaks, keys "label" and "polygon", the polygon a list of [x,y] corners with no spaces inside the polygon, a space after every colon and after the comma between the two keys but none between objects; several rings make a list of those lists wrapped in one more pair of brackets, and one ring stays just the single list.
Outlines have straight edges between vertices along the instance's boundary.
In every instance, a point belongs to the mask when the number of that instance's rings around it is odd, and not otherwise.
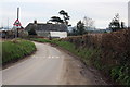
[{"label": "brown hedge with green grassy verge along the road's right side", "polygon": [[100,70],[112,80],[121,85],[130,85],[130,29],[109,34],[73,36],[58,40],[32,39],[63,47],[79,55],[87,65]]}]

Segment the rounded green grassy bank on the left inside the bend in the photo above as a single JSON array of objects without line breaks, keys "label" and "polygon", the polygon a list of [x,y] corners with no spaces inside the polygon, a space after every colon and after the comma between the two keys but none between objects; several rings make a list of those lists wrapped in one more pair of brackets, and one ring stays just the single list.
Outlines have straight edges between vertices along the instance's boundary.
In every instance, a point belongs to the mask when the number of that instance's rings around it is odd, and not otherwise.
[{"label": "rounded green grassy bank on the left inside the bend", "polygon": [[13,39],[2,42],[2,64],[22,59],[36,50],[35,44],[23,39]]}]

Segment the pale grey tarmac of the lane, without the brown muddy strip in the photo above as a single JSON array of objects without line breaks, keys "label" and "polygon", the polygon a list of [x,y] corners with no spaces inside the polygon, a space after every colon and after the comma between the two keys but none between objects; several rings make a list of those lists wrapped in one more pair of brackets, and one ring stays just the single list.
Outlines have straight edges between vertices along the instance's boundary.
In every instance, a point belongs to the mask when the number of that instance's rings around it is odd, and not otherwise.
[{"label": "pale grey tarmac of the lane, without the brown muddy strip", "polygon": [[50,45],[35,42],[37,52],[2,71],[3,85],[58,85],[64,55]]}]

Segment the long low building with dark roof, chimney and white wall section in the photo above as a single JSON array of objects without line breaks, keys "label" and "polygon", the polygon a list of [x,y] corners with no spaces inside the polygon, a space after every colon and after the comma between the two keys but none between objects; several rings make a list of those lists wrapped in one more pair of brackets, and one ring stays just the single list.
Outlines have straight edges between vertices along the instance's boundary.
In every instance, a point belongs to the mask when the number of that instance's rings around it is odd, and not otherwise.
[{"label": "long low building with dark roof, chimney and white wall section", "polygon": [[35,29],[36,34],[41,37],[52,37],[52,38],[65,38],[67,37],[67,26],[65,24],[51,24],[51,23],[29,23],[25,30],[29,32]]}]

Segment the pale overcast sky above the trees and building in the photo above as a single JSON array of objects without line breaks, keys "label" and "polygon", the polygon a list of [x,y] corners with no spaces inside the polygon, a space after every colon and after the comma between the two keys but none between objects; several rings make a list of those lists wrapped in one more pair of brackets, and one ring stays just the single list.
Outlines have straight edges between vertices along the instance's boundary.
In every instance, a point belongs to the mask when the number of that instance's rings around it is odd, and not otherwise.
[{"label": "pale overcast sky above the trees and building", "polygon": [[84,16],[92,18],[96,28],[108,27],[109,22],[119,13],[120,21],[128,25],[129,0],[1,0],[0,27],[13,26],[16,9],[20,7],[20,21],[24,27],[37,20],[47,23],[52,16],[62,17],[65,10],[70,16],[69,24],[75,26]]}]

